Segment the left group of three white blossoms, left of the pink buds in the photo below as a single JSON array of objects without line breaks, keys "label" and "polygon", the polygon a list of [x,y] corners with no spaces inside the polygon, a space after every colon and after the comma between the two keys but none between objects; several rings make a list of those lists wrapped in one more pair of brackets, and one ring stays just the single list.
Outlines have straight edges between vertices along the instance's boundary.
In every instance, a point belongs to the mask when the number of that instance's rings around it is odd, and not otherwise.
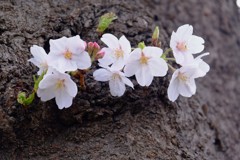
[{"label": "left group of three white blossoms, left of the pink buds", "polygon": [[29,61],[39,68],[38,75],[46,72],[37,90],[42,101],[55,98],[59,109],[72,105],[77,85],[66,72],[91,66],[91,58],[85,48],[86,43],[79,36],[50,40],[49,54],[42,47],[31,47],[34,58]]}]

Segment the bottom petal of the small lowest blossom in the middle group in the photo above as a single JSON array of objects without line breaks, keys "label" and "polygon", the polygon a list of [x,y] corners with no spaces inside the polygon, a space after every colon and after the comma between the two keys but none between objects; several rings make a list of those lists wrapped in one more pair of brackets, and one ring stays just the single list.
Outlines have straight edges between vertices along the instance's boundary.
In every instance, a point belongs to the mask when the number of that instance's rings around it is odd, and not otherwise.
[{"label": "bottom petal of the small lowest blossom in the middle group", "polygon": [[112,96],[122,96],[126,90],[125,84],[120,79],[114,79],[109,81],[110,93]]}]

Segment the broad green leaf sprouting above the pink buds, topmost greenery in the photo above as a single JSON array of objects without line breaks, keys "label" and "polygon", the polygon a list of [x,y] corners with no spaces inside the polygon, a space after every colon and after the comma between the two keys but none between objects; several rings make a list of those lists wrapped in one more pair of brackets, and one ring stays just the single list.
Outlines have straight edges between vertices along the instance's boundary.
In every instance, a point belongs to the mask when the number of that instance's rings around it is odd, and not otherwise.
[{"label": "broad green leaf sprouting above the pink buds, topmost greenery", "polygon": [[102,15],[99,20],[97,32],[102,34],[109,27],[112,21],[116,20],[117,18],[118,17],[113,12]]}]

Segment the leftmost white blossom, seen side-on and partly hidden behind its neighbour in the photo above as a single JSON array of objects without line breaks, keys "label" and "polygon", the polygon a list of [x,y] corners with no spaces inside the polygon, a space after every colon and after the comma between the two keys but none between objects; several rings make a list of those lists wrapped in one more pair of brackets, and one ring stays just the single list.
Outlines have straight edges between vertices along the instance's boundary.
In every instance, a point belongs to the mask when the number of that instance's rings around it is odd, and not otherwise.
[{"label": "leftmost white blossom, seen side-on and partly hidden behind its neighbour", "polygon": [[37,74],[41,75],[44,71],[48,70],[48,55],[42,47],[37,45],[33,45],[30,48],[30,52],[33,58],[30,58],[28,61],[39,68]]}]

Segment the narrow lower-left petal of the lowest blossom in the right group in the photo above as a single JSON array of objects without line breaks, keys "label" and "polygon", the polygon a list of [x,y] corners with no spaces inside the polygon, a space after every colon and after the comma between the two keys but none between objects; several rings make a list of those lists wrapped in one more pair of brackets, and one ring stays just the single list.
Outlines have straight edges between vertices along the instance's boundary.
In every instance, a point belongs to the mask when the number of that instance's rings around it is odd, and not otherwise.
[{"label": "narrow lower-left petal of the lowest blossom in the right group", "polygon": [[179,96],[179,91],[178,91],[178,80],[177,79],[173,79],[174,77],[172,77],[171,82],[168,86],[168,99],[172,102],[174,102],[178,96]]}]

